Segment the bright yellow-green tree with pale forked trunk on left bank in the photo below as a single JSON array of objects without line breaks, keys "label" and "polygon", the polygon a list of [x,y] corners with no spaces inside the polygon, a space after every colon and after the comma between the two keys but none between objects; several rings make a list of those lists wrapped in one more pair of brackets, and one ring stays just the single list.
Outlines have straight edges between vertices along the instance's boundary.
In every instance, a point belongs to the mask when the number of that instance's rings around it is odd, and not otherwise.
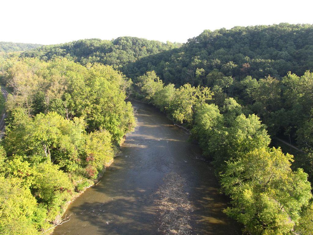
[{"label": "bright yellow-green tree with pale forked trunk on left bank", "polygon": [[[85,143],[84,126],[76,118],[62,118],[55,112],[37,114],[19,123],[5,138],[8,154],[31,156],[30,162],[55,162],[66,171],[75,170]],[[25,134],[27,133],[27,134]]]}]

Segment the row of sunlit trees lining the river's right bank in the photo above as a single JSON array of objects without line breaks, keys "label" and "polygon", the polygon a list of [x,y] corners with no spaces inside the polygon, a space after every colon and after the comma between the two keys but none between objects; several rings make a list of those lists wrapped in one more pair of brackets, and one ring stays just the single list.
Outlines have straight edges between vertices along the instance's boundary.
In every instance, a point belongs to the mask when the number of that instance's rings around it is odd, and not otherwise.
[{"label": "row of sunlit trees lining the river's right bank", "polygon": [[[270,148],[259,118],[244,115],[226,98],[219,109],[206,87],[165,85],[154,71],[137,78],[146,100],[172,120],[191,129],[204,156],[212,160],[231,206],[224,212],[249,234],[297,234],[308,231],[312,193],[308,174],[291,169],[293,156]],[[301,233],[310,234],[310,233]]]}]

